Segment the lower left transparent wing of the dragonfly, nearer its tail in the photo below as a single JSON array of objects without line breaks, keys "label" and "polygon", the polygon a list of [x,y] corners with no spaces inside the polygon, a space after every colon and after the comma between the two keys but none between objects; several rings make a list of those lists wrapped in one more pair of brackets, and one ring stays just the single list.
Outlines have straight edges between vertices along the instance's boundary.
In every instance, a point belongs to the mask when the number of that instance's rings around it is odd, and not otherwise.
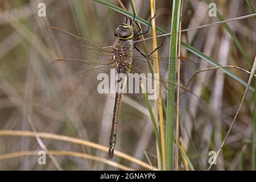
[{"label": "lower left transparent wing of the dragonfly, nearer its tail", "polygon": [[110,78],[110,69],[115,65],[114,61],[109,64],[99,64],[96,61],[60,59],[53,61],[49,68],[57,77],[91,89],[101,81],[98,80],[100,73]]}]

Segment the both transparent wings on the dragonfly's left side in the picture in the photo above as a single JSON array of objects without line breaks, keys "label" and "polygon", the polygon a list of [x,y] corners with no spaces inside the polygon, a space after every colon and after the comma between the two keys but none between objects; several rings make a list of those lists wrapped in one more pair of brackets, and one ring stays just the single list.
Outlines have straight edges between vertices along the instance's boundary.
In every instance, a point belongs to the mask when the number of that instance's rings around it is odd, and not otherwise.
[{"label": "both transparent wings on the dragonfly's left side in the picture", "polygon": [[41,34],[49,45],[62,53],[64,59],[53,61],[49,67],[51,72],[64,80],[91,89],[100,82],[97,80],[100,73],[110,76],[110,69],[115,67],[113,49],[101,43],[56,27],[45,27]]}]

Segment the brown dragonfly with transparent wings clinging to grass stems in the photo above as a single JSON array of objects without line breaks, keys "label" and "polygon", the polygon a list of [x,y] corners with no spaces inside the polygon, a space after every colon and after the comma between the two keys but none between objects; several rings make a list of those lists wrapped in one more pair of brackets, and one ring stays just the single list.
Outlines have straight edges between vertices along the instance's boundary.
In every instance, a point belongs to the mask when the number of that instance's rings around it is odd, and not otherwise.
[{"label": "brown dragonfly with transparent wings clinging to grass stems", "polygon": [[[148,25],[147,31],[149,28],[150,24]],[[179,107],[199,106],[201,100],[195,93],[183,86],[177,86],[175,83],[168,81],[168,67],[176,66],[177,60],[164,56],[155,57],[152,53],[147,55],[137,48],[134,39],[138,38],[139,35],[147,33],[147,31],[142,32],[140,28],[138,29],[139,30],[135,32],[131,27],[131,23],[129,25],[127,21],[126,23],[119,24],[114,31],[116,40],[113,46],[105,46],[92,40],[80,38],[57,27],[44,27],[41,30],[41,35],[44,40],[60,51],[63,56],[61,59],[53,61],[49,65],[49,69],[51,72],[55,73],[57,77],[84,86],[85,88],[93,89],[100,82],[97,79],[100,73],[110,76],[110,71],[114,69],[115,73],[122,73],[124,75],[131,73],[146,73],[150,75],[150,73],[154,72],[156,65],[158,65],[160,76],[156,78],[155,81],[152,81],[154,79],[147,79],[146,82],[147,84],[150,83],[154,86],[158,86],[160,92],[158,98],[161,97],[162,100],[164,100],[168,92],[175,94],[179,89]],[[158,63],[156,63],[156,59],[158,59]],[[179,63],[184,69],[197,68],[197,64],[191,60],[180,59]],[[145,78],[142,77],[140,79],[140,83],[142,83]],[[151,82],[148,82],[148,80],[151,80]],[[124,82],[124,84],[119,84],[120,82]],[[108,153],[110,159],[113,158],[114,148],[117,142],[118,117],[123,90],[125,86],[127,86],[126,83],[127,79],[125,77],[119,77],[115,80],[115,88],[109,89],[109,91],[112,89],[115,90],[112,130]],[[129,86],[134,86],[134,84],[129,84]],[[142,84],[140,84],[140,86],[141,88],[143,87]],[[142,93],[134,94],[139,97],[142,96]],[[159,99],[151,101],[158,102]],[[175,103],[176,101],[174,104]]]}]

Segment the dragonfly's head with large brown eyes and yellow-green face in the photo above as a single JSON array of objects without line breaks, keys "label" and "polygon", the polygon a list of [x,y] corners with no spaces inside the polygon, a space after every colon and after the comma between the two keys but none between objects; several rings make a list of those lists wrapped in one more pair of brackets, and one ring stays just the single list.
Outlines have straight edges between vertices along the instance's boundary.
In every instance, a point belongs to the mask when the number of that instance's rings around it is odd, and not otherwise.
[{"label": "dragonfly's head with large brown eyes and yellow-green face", "polygon": [[121,23],[115,29],[114,36],[122,40],[132,39],[134,36],[133,28],[129,24]]}]

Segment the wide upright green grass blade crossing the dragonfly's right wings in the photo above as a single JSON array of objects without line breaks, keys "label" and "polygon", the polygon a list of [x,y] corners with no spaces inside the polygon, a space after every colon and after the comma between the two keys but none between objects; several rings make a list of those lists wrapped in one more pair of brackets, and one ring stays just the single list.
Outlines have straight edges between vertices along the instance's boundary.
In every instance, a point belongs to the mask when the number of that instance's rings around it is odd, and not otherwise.
[{"label": "wide upright green grass blade crossing the dragonfly's right wings", "polygon": [[[177,40],[179,37],[179,22],[180,22],[180,0],[175,0],[172,3],[172,20],[171,20],[171,42],[170,42],[170,57],[172,60],[176,60],[177,57]],[[176,67],[172,67],[172,64],[168,68],[168,80],[170,82],[175,82],[176,80]],[[167,107],[166,107],[166,168],[167,170],[172,170],[172,153],[173,153],[173,142],[174,142],[174,101],[175,92],[170,92],[170,90],[175,90],[174,85],[168,85],[168,96],[167,96]]]}]

